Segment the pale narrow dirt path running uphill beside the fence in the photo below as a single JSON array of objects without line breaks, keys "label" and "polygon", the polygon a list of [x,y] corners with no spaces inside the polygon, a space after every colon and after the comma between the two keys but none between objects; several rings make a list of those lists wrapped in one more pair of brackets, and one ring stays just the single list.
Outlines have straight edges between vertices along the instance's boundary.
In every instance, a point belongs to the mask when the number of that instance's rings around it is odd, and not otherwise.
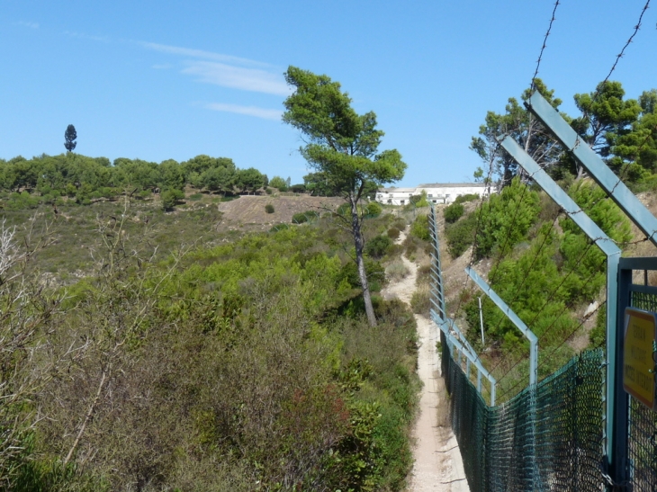
[{"label": "pale narrow dirt path running uphill beside the fence", "polygon": [[[404,240],[402,235],[398,241]],[[410,303],[415,291],[418,265],[407,258],[401,260],[410,274],[383,291],[386,298],[397,297]],[[449,407],[446,401],[445,384],[440,377],[440,364],[436,351],[437,327],[421,315],[415,315],[418,323],[419,354],[418,373],[422,380],[419,400],[419,416],[413,429],[415,446],[412,477],[409,492],[444,491],[469,492],[465,480],[461,452],[449,426]]]}]

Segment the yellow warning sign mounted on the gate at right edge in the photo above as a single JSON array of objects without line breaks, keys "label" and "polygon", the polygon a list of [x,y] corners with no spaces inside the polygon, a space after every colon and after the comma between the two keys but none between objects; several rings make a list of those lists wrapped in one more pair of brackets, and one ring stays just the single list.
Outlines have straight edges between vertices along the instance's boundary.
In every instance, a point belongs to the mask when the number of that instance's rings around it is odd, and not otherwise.
[{"label": "yellow warning sign mounted on the gate at right edge", "polygon": [[626,308],[625,347],[623,351],[623,388],[646,407],[655,409],[653,342],[655,314]]}]

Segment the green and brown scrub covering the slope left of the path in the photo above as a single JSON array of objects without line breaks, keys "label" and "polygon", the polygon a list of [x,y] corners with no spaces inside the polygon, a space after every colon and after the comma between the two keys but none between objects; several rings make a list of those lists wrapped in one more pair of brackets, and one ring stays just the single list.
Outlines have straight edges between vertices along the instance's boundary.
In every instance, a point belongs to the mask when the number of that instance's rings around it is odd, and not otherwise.
[{"label": "green and brown scrub covering the slope left of the path", "polygon": [[[103,206],[15,210],[2,226],[4,488],[404,487],[419,382],[413,315],[376,293],[401,253],[391,214],[363,223],[371,327],[353,237],[330,214],[173,234],[162,251],[170,214]],[[74,226],[94,237],[86,264]],[[80,273],[61,279],[56,261]]]}]

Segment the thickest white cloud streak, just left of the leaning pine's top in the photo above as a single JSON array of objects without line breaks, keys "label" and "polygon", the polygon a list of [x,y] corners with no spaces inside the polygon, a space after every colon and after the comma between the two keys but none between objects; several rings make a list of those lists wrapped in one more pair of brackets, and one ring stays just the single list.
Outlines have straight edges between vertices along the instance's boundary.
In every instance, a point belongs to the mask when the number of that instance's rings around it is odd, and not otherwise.
[{"label": "thickest white cloud streak, just left of the leaning pine's top", "polygon": [[197,80],[206,84],[257,93],[291,94],[291,89],[285,84],[283,76],[259,68],[232,67],[211,61],[191,61],[188,62],[188,67],[184,68],[183,73],[198,76]]}]

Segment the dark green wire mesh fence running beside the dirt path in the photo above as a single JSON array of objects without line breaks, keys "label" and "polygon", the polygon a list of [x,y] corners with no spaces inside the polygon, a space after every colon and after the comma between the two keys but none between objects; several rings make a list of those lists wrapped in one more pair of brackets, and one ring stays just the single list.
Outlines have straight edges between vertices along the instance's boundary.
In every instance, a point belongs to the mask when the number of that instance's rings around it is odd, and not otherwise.
[{"label": "dark green wire mesh fence running beside the dirt path", "polygon": [[601,350],[582,353],[509,402],[488,407],[443,343],[452,427],[470,490],[604,490],[603,361]]}]

